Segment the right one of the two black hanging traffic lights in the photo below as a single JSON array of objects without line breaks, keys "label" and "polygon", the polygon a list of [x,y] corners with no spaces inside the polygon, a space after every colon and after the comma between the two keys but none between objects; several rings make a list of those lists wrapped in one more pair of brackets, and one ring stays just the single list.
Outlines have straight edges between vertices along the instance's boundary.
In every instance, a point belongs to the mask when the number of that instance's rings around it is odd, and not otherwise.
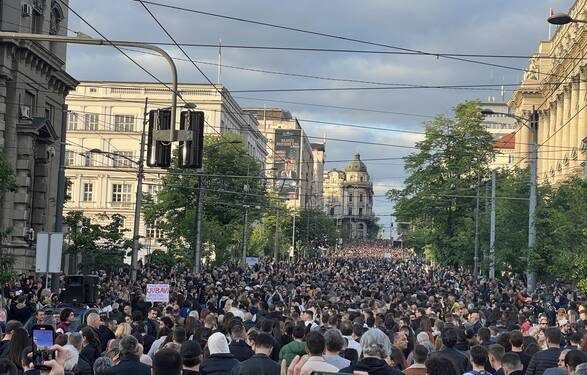
[{"label": "right one of the two black hanging traffic lights", "polygon": [[204,112],[183,111],[179,118],[179,129],[190,134],[190,140],[179,142],[179,166],[202,168],[204,155]]}]

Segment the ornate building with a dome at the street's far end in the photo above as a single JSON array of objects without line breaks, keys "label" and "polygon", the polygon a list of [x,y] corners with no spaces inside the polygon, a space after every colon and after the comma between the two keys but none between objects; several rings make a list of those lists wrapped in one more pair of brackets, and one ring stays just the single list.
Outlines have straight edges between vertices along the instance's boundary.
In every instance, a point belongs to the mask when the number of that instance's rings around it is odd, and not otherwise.
[{"label": "ornate building with a dome at the street's far end", "polygon": [[357,153],[344,171],[326,172],[323,184],[324,209],[336,219],[340,238],[352,241],[372,237],[373,229],[377,228],[373,215],[373,182],[361,155]]}]

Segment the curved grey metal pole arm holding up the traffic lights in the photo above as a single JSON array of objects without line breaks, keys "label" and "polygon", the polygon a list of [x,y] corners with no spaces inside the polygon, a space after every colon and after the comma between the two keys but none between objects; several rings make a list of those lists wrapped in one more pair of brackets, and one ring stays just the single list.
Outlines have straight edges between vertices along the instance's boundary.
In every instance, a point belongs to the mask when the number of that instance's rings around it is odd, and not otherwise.
[{"label": "curved grey metal pole arm holding up the traffic lights", "polygon": [[43,42],[57,42],[57,43],[71,43],[71,44],[89,44],[95,46],[124,46],[148,49],[160,54],[171,67],[171,78],[172,78],[172,93],[171,93],[171,136],[173,139],[173,133],[175,129],[175,112],[177,108],[177,67],[175,62],[169,56],[164,49],[141,42],[131,42],[127,40],[105,40],[95,39],[91,37],[80,37],[80,36],[61,36],[61,35],[46,35],[46,34],[31,34],[31,33],[15,33],[9,31],[0,31],[0,38],[2,39],[17,39],[17,40],[35,40]]}]

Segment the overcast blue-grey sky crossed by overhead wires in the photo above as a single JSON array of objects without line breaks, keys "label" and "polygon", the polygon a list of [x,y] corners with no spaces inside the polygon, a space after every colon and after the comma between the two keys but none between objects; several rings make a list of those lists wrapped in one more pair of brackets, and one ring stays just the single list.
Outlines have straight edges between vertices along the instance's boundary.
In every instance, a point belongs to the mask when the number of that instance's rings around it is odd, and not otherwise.
[{"label": "overcast blue-grey sky crossed by overhead wires", "polygon": [[[549,9],[567,11],[571,0],[160,0],[163,3],[199,11],[219,13],[321,33],[351,37],[432,53],[524,55],[536,50],[548,38],[545,19]],[[170,42],[140,3],[132,0],[71,0],[70,6],[110,39]],[[148,5],[159,21],[181,43],[256,45],[394,51],[385,47],[337,40],[280,30],[261,25],[210,17],[191,12]],[[74,14],[70,29],[97,34]],[[165,47],[172,56],[182,57],[176,48]],[[218,49],[186,47],[188,54],[202,62],[217,62]],[[133,58],[168,81],[167,64],[160,58],[131,53]],[[515,68],[524,68],[525,59],[481,59]],[[235,67],[262,69],[319,77],[363,80],[378,83],[423,85],[471,85],[519,83],[522,72],[430,56],[390,54],[308,52],[258,49],[222,49],[222,63]],[[216,67],[200,64],[216,81]],[[67,70],[78,80],[153,81],[123,55],[110,48],[70,45]],[[189,63],[178,62],[181,82],[204,83],[204,77]],[[225,67],[221,83],[231,91],[258,89],[374,87],[373,84],[319,80],[243,71]],[[376,86],[375,86],[376,87]],[[256,92],[233,93],[242,107],[281,107],[300,119],[376,126],[388,129],[421,130],[426,117],[449,113],[459,102],[486,100],[501,94],[494,91],[403,89],[363,91]],[[509,91],[506,90],[506,99]],[[254,99],[251,99],[254,98]],[[271,100],[353,107],[334,109]],[[360,111],[357,108],[402,112],[417,116]],[[350,127],[301,123],[311,137],[353,139],[413,146],[417,135]],[[312,142],[318,139],[311,139]],[[359,143],[327,141],[326,168],[344,168],[360,152],[363,159],[405,156],[410,149]],[[374,180],[375,211],[389,228],[392,207],[383,197],[401,187],[405,172],[401,160],[366,161]],[[387,233],[387,231],[386,231]]]}]

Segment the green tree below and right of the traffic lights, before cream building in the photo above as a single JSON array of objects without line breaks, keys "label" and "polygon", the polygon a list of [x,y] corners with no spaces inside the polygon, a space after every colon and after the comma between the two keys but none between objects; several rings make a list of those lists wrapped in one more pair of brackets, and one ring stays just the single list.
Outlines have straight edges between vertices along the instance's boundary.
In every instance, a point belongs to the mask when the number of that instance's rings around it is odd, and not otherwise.
[{"label": "green tree below and right of the traffic lights, before cream building", "polygon": [[[216,261],[222,262],[242,246],[243,205],[264,206],[265,188],[259,178],[261,165],[247,155],[243,139],[238,134],[229,133],[222,138],[207,136],[204,144],[202,240],[213,245],[211,248],[216,253]],[[195,196],[198,188],[195,172],[179,168],[174,160],[169,173],[162,178],[157,196],[147,196],[144,203],[147,223],[163,232],[161,244],[174,259],[186,265],[192,262],[191,244],[195,239]],[[249,223],[260,218],[260,210],[249,209]]]}]

